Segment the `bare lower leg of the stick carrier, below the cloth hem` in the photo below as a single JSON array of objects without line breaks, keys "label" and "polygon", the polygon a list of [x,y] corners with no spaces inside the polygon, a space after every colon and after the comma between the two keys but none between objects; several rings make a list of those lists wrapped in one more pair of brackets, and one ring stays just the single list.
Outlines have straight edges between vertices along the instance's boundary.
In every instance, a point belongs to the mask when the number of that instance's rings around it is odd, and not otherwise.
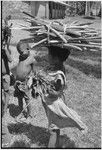
[{"label": "bare lower leg of the stick carrier, below the cloth hem", "polygon": [[48,148],[59,147],[59,136],[60,136],[60,129],[50,130],[50,139],[48,143]]}]

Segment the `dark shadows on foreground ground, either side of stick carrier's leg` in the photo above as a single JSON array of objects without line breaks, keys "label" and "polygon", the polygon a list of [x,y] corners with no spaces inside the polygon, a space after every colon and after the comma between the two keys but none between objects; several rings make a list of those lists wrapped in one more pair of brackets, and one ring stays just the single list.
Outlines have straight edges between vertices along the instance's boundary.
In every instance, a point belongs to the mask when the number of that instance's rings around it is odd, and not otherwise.
[{"label": "dark shadows on foreground ground, either side of stick carrier's leg", "polygon": [[[27,147],[32,147],[33,144],[38,144],[40,147],[47,147],[50,133],[46,128],[33,126],[31,124],[26,123],[17,123],[17,124],[9,124],[8,130],[10,134],[24,134],[27,136],[28,139],[30,139],[30,145],[24,144],[24,140],[14,142],[10,147],[23,147],[22,145],[27,145]],[[18,146],[17,146],[18,145]],[[75,143],[74,141],[70,140],[67,135],[61,135],[60,136],[60,145],[59,148],[74,148]],[[33,147],[32,147],[33,148]],[[35,148],[35,146],[34,146]]]}]

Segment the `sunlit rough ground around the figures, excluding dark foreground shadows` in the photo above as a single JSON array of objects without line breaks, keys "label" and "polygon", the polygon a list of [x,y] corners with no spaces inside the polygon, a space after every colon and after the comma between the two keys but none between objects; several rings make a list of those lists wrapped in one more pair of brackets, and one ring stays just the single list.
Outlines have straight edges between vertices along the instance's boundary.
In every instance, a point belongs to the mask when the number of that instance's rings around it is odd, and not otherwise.
[{"label": "sunlit rough ground around the figures, excluding dark foreground shadows", "polygon": [[[76,18],[70,18],[71,21]],[[77,18],[80,21],[84,19]],[[85,21],[89,21],[86,20]],[[22,20],[12,20],[13,26],[24,23]],[[95,19],[93,27],[101,28],[100,19]],[[99,31],[100,32],[100,31]],[[18,29],[12,30],[11,51],[13,62],[10,68],[18,63],[16,44],[20,39],[29,37],[29,32]],[[41,52],[46,54],[46,52]],[[67,89],[66,103],[74,109],[87,125],[88,132],[83,135],[76,128],[61,129],[61,148],[100,148],[101,147],[101,52],[100,51],[71,51],[65,62]],[[13,97],[13,87],[7,115],[2,119],[2,147],[7,148],[45,148],[49,140],[47,118],[40,98],[32,99],[31,124],[16,123],[14,117],[19,112],[18,101]],[[24,103],[25,105],[25,103]]]}]

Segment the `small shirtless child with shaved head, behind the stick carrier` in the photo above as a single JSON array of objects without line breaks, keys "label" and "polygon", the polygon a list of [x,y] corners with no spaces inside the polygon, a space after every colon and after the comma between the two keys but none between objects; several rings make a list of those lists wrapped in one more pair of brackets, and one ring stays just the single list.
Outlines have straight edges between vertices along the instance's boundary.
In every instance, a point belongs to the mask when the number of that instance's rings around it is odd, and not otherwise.
[{"label": "small shirtless child with shaved head, behind the stick carrier", "polygon": [[[16,84],[15,84],[15,96],[18,97],[18,103],[20,111],[23,110],[23,98],[25,99],[27,106],[27,116],[31,117],[31,104],[30,104],[30,89],[29,89],[29,77],[32,72],[32,65],[36,63],[34,55],[30,53],[30,47],[27,43],[20,41],[17,44],[17,51],[20,54],[19,63],[16,68]],[[19,119],[21,116],[18,116]]]}]

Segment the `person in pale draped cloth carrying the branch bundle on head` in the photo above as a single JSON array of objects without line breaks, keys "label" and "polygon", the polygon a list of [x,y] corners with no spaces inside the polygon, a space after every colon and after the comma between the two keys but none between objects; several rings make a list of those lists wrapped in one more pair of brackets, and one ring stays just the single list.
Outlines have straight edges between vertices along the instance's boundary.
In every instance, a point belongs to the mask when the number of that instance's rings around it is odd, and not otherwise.
[{"label": "person in pale draped cloth carrying the branch bundle on head", "polygon": [[77,127],[79,130],[87,130],[87,127],[80,120],[78,114],[68,108],[62,100],[62,93],[65,88],[65,68],[63,62],[68,58],[70,52],[57,46],[49,47],[49,66],[46,68],[48,75],[42,74],[55,87],[47,87],[43,93],[42,103],[49,122],[49,148],[59,147],[60,128]]}]

